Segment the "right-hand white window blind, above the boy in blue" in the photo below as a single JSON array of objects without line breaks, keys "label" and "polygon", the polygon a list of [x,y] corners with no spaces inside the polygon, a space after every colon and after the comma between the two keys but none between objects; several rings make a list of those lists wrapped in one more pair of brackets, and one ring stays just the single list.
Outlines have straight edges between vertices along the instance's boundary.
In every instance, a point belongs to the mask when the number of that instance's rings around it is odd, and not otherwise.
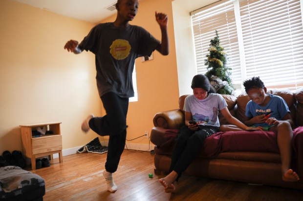
[{"label": "right-hand white window blind, above the boy in blue", "polygon": [[300,0],[240,0],[247,77],[267,87],[303,86]]}]

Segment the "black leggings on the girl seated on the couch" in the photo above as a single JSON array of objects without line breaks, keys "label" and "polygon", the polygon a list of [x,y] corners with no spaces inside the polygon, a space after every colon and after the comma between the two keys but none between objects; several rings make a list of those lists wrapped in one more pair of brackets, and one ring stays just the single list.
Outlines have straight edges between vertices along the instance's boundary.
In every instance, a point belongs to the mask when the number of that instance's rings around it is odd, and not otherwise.
[{"label": "black leggings on the girl seated on the couch", "polygon": [[187,126],[183,126],[180,129],[174,145],[170,167],[170,172],[175,171],[178,174],[176,181],[198,155],[204,140],[218,131],[217,127],[203,127],[193,131]]}]

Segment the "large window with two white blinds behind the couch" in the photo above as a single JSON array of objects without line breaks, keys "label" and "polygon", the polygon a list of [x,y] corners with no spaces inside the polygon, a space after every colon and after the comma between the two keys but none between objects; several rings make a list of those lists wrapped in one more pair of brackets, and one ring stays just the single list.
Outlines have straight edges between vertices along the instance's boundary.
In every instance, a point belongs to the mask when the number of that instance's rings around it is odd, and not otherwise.
[{"label": "large window with two white blinds behind the couch", "polygon": [[207,72],[204,60],[217,30],[236,86],[253,76],[269,88],[303,86],[300,0],[221,0],[191,15],[198,74]]}]

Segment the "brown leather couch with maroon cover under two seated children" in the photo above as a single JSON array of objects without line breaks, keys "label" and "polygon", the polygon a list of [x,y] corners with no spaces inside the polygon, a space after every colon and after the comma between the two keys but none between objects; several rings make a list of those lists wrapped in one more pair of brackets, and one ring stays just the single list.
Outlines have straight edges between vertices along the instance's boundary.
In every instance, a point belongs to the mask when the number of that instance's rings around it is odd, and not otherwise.
[{"label": "brown leather couch with maroon cover under two seated children", "polygon": [[[287,103],[294,120],[293,168],[301,180],[295,183],[281,179],[281,158],[276,143],[277,133],[270,131],[218,132],[205,140],[201,152],[185,174],[214,179],[303,189],[303,88],[289,90],[268,89]],[[167,174],[171,163],[174,139],[184,125],[184,99],[179,109],[157,113],[153,118],[151,142],[154,147],[155,174]],[[243,121],[245,107],[250,100],[246,93],[238,97],[223,95],[233,116]],[[220,124],[228,124],[219,114]]]}]

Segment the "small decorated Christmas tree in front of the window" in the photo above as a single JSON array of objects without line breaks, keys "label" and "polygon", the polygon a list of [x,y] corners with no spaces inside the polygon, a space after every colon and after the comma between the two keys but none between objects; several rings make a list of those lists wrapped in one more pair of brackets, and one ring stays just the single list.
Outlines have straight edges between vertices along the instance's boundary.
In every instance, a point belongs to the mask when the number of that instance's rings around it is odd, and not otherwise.
[{"label": "small decorated Christmas tree in front of the window", "polygon": [[216,37],[211,39],[210,48],[208,49],[209,55],[206,55],[205,65],[208,66],[208,72],[205,76],[208,77],[212,86],[216,89],[217,93],[220,94],[234,94],[235,87],[232,84],[230,78],[231,68],[226,66],[226,52],[220,45],[219,35],[216,31]]}]

